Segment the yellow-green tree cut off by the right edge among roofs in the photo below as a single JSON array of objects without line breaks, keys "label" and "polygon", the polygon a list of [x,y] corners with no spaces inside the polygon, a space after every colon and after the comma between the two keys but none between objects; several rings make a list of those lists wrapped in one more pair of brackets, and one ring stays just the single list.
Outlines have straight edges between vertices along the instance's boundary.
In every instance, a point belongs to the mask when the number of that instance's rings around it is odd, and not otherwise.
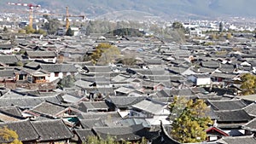
[{"label": "yellow-green tree cut off by the right edge among roofs", "polygon": [[254,74],[246,73],[241,76],[242,95],[256,94],[256,76]]}]

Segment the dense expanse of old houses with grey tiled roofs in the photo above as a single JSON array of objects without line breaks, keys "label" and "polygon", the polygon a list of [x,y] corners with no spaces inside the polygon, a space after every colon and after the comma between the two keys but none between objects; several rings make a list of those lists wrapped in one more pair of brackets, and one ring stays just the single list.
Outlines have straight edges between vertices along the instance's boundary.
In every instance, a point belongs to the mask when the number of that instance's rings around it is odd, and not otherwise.
[{"label": "dense expanse of old houses with grey tiled roofs", "polygon": [[[214,124],[204,143],[256,143],[256,95],[241,95],[235,83],[256,71],[256,43],[246,37],[210,46],[100,35],[1,43],[0,127],[15,130],[23,143],[83,143],[89,136],[179,143],[169,135],[174,96],[206,101]],[[136,64],[84,61],[98,43],[114,44]],[[60,87],[68,77],[72,86]]]}]

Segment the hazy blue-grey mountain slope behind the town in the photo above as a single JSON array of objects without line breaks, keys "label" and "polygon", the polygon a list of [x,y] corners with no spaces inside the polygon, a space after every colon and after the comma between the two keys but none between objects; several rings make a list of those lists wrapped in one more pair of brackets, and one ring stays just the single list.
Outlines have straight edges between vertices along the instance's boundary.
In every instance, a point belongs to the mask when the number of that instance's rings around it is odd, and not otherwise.
[{"label": "hazy blue-grey mountain slope behind the town", "polygon": [[[115,11],[140,11],[161,18],[211,18],[218,16],[256,17],[255,0],[1,0],[1,9],[18,9],[7,2],[36,3],[42,9],[65,14],[68,6],[71,14],[99,17],[117,14]],[[137,15],[139,16],[139,15]]]}]

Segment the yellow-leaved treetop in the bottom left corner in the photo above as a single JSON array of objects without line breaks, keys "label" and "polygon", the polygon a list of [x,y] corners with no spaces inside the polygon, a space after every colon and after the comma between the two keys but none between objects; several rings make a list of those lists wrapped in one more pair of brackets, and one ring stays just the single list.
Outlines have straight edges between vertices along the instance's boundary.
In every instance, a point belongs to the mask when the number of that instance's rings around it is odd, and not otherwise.
[{"label": "yellow-leaved treetop in the bottom left corner", "polygon": [[19,141],[19,135],[14,130],[9,130],[7,127],[0,128],[0,136],[4,141],[11,141],[9,144],[22,144]]}]

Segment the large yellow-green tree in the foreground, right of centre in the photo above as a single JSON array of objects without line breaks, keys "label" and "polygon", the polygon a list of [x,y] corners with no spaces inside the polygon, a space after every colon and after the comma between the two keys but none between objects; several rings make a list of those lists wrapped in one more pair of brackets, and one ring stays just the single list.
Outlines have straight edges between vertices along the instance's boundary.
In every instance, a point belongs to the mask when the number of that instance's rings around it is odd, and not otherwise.
[{"label": "large yellow-green tree in the foreground, right of centre", "polygon": [[[186,100],[184,98],[174,98],[170,104],[172,112],[172,137],[180,142],[201,142],[207,139],[205,130],[212,120],[205,116],[207,105],[203,100]],[[176,116],[176,118],[172,118]]]}]

